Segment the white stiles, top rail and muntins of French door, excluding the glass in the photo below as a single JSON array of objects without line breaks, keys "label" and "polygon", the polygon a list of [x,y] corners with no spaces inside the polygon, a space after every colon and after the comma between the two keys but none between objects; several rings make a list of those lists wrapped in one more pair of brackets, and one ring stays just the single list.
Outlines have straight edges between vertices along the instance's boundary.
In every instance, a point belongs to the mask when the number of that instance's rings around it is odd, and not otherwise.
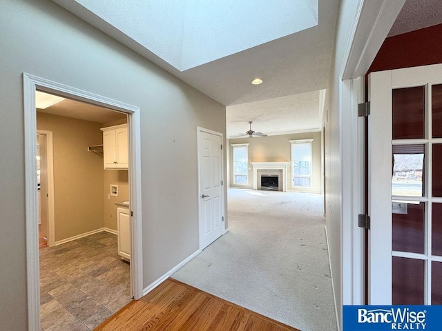
[{"label": "white stiles, top rail and muntins of French door, excluding the glass", "polygon": [[[368,303],[372,305],[392,304],[392,257],[407,257],[424,260],[431,268],[431,261],[437,257],[431,254],[431,212],[427,213],[425,225],[425,253],[393,252],[392,250],[392,90],[426,86],[442,82],[442,65],[421,66],[369,74],[369,100],[371,111],[368,118],[368,173],[369,173],[369,216],[371,230],[368,243]],[[426,99],[430,100],[429,97]],[[430,119],[431,102],[426,102],[425,118]],[[431,143],[431,126],[426,124],[425,139],[409,139],[396,143]],[[430,138],[429,138],[430,137]],[[427,152],[429,152],[427,148]],[[431,156],[427,155],[425,197],[401,197],[403,200],[429,203],[436,200],[431,197]],[[440,199],[440,198],[439,198]],[[431,210],[431,209],[430,209]],[[430,215],[429,215],[430,214]],[[425,304],[431,298],[431,272],[425,272]],[[431,270],[430,270],[431,271]],[[406,277],[406,275],[405,275]]]}]

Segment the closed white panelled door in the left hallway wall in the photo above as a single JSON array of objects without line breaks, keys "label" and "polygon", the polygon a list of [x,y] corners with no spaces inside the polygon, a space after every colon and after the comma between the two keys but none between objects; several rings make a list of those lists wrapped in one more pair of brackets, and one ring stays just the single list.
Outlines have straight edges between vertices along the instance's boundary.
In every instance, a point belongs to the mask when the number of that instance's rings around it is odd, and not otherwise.
[{"label": "closed white panelled door in the left hallway wall", "polygon": [[222,134],[198,128],[198,159],[202,250],[218,239],[224,230]]}]

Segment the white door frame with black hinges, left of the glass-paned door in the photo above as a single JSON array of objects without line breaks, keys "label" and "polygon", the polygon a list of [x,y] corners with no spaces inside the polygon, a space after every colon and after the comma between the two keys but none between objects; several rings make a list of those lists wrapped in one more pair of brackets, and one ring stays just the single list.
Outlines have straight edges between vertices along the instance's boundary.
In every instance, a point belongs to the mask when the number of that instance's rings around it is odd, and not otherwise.
[{"label": "white door frame with black hinges, left of the glass-paned door", "polygon": [[[361,100],[358,102],[363,102],[365,99],[364,93],[361,92],[363,81],[357,80],[364,79],[404,3],[405,0],[358,0],[347,47],[343,54],[343,63],[338,74],[340,81],[338,130],[342,183],[341,293],[335,293],[335,297],[340,295],[342,305],[365,304],[366,279],[362,263],[365,261],[365,238],[361,235],[364,230],[358,228],[357,224],[357,215],[365,213],[363,205],[365,190],[361,190],[365,187],[365,184],[361,185],[361,179],[365,174],[365,154],[361,139],[365,139],[365,130],[361,128],[361,119],[354,116],[357,112],[355,99]],[[342,319],[338,317],[338,321]],[[338,326],[342,328],[341,325]]]}]

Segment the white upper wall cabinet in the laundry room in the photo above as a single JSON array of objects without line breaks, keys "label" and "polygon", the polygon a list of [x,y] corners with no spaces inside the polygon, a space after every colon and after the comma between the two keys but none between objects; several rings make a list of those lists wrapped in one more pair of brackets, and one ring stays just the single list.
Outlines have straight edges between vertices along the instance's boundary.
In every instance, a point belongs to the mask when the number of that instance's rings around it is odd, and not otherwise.
[{"label": "white upper wall cabinet in the laundry room", "polygon": [[102,128],[104,169],[128,168],[127,125]]}]

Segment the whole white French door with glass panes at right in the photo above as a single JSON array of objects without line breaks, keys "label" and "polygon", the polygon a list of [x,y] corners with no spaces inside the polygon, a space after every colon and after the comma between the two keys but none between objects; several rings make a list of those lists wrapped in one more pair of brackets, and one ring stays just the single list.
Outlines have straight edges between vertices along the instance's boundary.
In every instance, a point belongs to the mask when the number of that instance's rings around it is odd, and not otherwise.
[{"label": "whole white French door with glass panes at right", "polygon": [[369,75],[369,304],[442,304],[442,65]]}]

